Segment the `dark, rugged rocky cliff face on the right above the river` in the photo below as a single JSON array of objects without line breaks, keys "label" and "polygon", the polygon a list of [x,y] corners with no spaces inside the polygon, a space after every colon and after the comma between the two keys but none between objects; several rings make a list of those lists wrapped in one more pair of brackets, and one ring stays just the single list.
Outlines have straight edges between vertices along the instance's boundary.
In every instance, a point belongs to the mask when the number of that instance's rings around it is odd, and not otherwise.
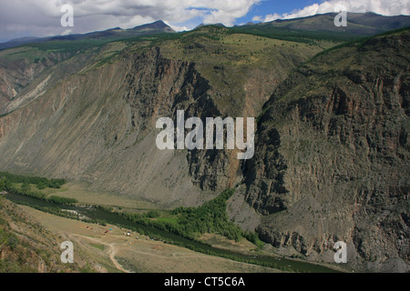
[{"label": "dark, rugged rocky cliff face on the right above the river", "polygon": [[273,246],[313,256],[343,240],[351,262],[408,264],[409,41],[319,55],[264,106],[245,199]]}]

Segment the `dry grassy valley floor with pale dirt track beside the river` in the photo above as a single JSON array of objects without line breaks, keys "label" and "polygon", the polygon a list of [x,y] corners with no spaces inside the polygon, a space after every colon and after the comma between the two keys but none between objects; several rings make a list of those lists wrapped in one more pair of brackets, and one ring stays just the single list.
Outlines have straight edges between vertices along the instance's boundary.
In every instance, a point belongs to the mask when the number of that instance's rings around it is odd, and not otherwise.
[{"label": "dry grassy valley floor with pale dirt track beside the river", "polygon": [[[136,233],[125,236],[126,230],[117,226],[98,226],[53,216],[29,206],[19,206],[29,216],[56,234],[65,234],[87,249],[91,257],[108,261],[111,271],[140,273],[276,273],[268,267],[235,262],[207,256],[189,249],[150,240]],[[113,231],[106,234],[109,229]],[[137,238],[138,236],[138,238]],[[233,245],[232,245],[233,246]],[[237,246],[241,249],[244,246]],[[75,251],[76,260],[76,251]]]}]

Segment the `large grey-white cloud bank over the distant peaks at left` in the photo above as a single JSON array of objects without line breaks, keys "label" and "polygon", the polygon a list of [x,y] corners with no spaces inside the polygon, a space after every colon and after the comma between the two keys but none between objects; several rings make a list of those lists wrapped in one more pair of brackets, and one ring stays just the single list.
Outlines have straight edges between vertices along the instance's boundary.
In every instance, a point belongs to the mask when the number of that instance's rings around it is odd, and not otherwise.
[{"label": "large grey-white cloud bank over the distant peaks at left", "polygon": [[261,0],[1,0],[0,41],[25,35],[60,35],[60,7],[73,5],[72,33],[120,26],[131,28],[157,20],[185,30],[192,19],[233,25]]}]

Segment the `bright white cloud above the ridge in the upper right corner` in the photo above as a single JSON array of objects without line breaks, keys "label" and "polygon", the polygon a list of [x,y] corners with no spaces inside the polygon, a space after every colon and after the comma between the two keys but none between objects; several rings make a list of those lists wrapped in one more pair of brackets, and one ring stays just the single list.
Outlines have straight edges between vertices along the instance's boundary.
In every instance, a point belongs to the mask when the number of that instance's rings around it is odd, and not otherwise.
[{"label": "bright white cloud above the ridge in the upper right corner", "polygon": [[344,5],[349,12],[365,13],[374,12],[379,15],[410,15],[410,0],[330,0],[322,4],[313,4],[290,14],[277,13],[266,15],[264,22],[276,19],[291,19],[317,14],[334,12],[336,5]]}]

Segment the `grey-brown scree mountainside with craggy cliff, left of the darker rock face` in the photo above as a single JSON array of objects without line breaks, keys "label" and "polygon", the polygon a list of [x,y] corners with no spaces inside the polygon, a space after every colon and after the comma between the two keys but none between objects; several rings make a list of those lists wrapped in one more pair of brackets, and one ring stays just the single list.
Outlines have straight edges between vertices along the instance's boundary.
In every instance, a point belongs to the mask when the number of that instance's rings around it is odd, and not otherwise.
[{"label": "grey-brown scree mountainside with craggy cliff, left of the darker rock face", "polygon": [[241,178],[236,153],[159,151],[157,120],[176,120],[178,110],[203,121],[255,116],[287,72],[317,48],[307,54],[280,47],[278,53],[261,46],[266,54],[261,63],[275,56],[272,72],[242,65],[246,55],[236,51],[224,55],[234,65],[216,58],[195,62],[195,55],[220,47],[207,39],[198,42],[203,45],[193,46],[185,58],[176,50],[187,50],[186,45],[170,51],[167,45],[107,45],[66,55],[67,60],[32,75],[34,80],[4,105],[0,168],[86,181],[96,190],[162,206],[199,205],[233,186]]}]

